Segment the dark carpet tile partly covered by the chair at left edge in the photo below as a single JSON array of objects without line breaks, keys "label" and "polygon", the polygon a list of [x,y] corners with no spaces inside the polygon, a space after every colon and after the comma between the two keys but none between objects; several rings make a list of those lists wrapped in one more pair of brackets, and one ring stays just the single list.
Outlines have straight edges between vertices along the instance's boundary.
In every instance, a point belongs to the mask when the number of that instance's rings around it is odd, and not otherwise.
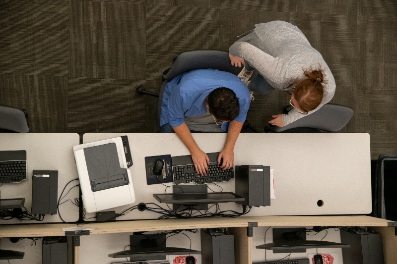
[{"label": "dark carpet tile partly covered by the chair at left edge", "polygon": [[30,132],[66,132],[67,77],[0,74],[0,87],[0,105],[25,108]]}]

